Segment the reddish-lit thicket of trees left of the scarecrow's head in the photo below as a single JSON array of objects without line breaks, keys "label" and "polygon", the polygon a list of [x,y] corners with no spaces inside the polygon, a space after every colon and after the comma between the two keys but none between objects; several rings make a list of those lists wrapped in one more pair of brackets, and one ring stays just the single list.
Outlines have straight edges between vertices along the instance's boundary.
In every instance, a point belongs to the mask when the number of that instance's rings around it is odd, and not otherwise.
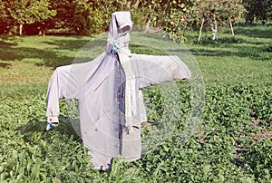
[{"label": "reddish-lit thicket of trees left of the scarecrow's head", "polygon": [[[96,34],[108,29],[114,11],[128,9],[124,0],[0,0],[0,34],[19,27],[19,34]],[[135,17],[134,17],[135,18]],[[7,21],[8,20],[8,21]]]}]

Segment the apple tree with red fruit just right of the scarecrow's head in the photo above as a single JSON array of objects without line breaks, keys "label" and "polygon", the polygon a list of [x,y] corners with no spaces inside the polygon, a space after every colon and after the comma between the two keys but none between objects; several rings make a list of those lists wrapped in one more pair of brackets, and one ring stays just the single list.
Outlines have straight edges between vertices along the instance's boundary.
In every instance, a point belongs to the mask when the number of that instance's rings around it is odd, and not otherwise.
[{"label": "apple tree with red fruit just right of the scarecrow's head", "polygon": [[173,41],[184,42],[185,16],[189,13],[190,0],[137,0],[133,8],[146,8],[145,32],[149,27],[160,27]]}]

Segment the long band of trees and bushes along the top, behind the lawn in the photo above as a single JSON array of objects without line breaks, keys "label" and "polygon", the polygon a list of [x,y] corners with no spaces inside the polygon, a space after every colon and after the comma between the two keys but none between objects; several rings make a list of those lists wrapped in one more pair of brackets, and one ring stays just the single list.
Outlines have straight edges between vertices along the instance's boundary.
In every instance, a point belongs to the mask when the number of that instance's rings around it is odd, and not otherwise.
[{"label": "long band of trees and bushes along the top, behind the lawn", "polygon": [[0,34],[97,34],[114,11],[128,10],[134,24],[159,27],[181,42],[189,29],[272,19],[271,0],[1,0],[0,10]]}]

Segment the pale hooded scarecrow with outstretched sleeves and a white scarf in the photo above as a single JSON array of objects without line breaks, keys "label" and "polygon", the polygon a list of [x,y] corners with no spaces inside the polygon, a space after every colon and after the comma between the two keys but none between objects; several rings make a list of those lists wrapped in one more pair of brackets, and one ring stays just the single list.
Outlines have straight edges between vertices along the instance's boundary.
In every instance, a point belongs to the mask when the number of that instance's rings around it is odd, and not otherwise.
[{"label": "pale hooded scarecrow with outstretched sleeves and a white scarf", "polygon": [[119,155],[141,158],[142,88],[190,78],[178,56],[131,53],[131,27],[130,12],[113,13],[105,51],[92,62],[56,68],[48,86],[46,130],[59,122],[61,99],[78,100],[81,138],[96,169],[110,169]]}]

